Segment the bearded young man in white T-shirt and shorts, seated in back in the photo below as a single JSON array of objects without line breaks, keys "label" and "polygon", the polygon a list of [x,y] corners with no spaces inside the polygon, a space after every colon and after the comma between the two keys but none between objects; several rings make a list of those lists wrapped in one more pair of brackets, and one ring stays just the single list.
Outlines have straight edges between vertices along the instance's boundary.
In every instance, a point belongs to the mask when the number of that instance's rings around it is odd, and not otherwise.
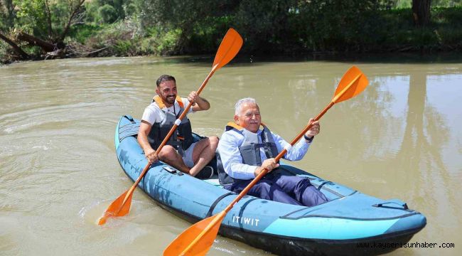
[{"label": "bearded young man in white T-shirt and shorts, seated in back", "polygon": [[208,137],[193,142],[188,117],[183,118],[159,155],[155,151],[189,102],[193,102],[193,106],[188,114],[208,110],[210,103],[199,97],[195,91],[190,92],[188,98],[178,97],[176,80],[171,75],[161,75],[156,85],[157,95],[154,96],[151,105],[144,110],[138,132],[138,142],[144,150],[146,159],[151,164],[161,160],[197,178],[210,178],[213,175],[213,168],[206,165],[215,156],[218,137]]}]

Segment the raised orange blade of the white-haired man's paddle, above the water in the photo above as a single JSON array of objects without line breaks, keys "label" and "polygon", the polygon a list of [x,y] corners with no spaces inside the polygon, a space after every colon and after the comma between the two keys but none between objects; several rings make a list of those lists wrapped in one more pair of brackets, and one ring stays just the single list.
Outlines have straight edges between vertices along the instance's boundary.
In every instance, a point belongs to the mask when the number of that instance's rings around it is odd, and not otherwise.
[{"label": "raised orange blade of the white-haired man's paddle, above the water", "polygon": [[340,80],[337,90],[335,90],[333,95],[332,102],[338,103],[349,100],[360,94],[368,84],[369,81],[367,81],[366,75],[364,75],[359,68],[353,66],[343,75],[342,80]]}]

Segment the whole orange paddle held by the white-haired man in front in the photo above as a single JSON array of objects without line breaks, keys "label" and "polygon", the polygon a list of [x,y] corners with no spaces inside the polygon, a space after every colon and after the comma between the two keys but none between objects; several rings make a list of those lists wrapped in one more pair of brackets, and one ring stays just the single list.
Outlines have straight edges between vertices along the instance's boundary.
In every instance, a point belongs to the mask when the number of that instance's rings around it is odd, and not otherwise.
[{"label": "whole orange paddle held by the white-haired man in front", "polygon": [[[313,122],[318,121],[321,119],[324,114],[335,104],[338,102],[342,102],[344,100],[348,100],[356,95],[360,94],[362,90],[367,87],[367,78],[361,72],[359,68],[353,66],[350,68],[345,75],[343,75],[340,83],[338,84],[337,90],[333,95],[331,103],[324,108],[321,113],[319,113],[314,119]],[[306,125],[305,129],[295,137],[290,143],[291,146],[294,146],[299,139],[308,132],[308,129],[311,128],[312,122],[309,122]],[[283,149],[275,158],[275,161],[279,161],[281,157],[283,157],[287,152],[287,149]],[[267,174],[268,170],[264,169],[257,177],[253,179],[247,187],[228,205],[225,210],[222,210],[220,213],[213,215],[209,218],[205,218],[200,220],[198,223],[195,223],[190,228],[185,230],[183,233],[178,235],[178,237],[171,242],[166,250],[163,251],[163,255],[205,255],[210,247],[213,245],[213,241],[215,240],[218,230],[220,228],[220,224],[225,218],[225,215],[232,209],[232,207],[240,201],[240,199],[245,196],[245,194],[255,185],[265,174]]]}]

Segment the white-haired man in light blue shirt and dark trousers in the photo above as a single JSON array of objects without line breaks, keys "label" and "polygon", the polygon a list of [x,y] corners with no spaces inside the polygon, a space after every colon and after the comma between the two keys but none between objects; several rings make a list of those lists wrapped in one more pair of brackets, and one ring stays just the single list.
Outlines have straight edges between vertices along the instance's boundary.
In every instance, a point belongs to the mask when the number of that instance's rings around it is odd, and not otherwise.
[{"label": "white-haired man in light blue shirt and dark trousers", "polygon": [[[234,120],[227,124],[217,148],[218,176],[227,190],[240,193],[253,178],[268,169],[269,173],[249,190],[248,195],[301,206],[316,206],[328,201],[308,179],[272,172],[279,167],[274,157],[290,144],[262,125],[254,99],[245,98],[236,103]],[[313,122],[304,139],[292,146],[284,159],[302,159],[319,129],[319,122]]]}]

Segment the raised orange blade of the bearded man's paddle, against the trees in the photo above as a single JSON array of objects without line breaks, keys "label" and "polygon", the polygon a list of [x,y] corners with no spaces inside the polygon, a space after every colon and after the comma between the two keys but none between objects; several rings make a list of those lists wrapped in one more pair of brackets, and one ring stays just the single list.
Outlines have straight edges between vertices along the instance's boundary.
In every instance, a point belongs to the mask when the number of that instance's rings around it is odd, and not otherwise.
[{"label": "raised orange blade of the bearded man's paddle, against the trees", "polygon": [[232,58],[235,58],[235,55],[237,55],[242,46],[242,42],[240,34],[230,28],[221,41],[220,47],[218,47],[217,55],[215,55],[215,60],[213,60],[213,67],[218,65],[217,68],[221,68],[229,63]]}]

